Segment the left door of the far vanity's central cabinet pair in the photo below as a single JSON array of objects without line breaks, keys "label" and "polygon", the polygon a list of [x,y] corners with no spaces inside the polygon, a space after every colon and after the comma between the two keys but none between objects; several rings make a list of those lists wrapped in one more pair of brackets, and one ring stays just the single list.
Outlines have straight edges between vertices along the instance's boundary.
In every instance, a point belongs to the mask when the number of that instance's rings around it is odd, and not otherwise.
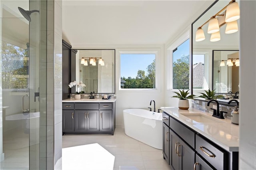
[{"label": "left door of the far vanity's central cabinet pair", "polygon": [[86,114],[87,111],[75,111],[75,132],[86,132],[87,123],[86,123]]}]

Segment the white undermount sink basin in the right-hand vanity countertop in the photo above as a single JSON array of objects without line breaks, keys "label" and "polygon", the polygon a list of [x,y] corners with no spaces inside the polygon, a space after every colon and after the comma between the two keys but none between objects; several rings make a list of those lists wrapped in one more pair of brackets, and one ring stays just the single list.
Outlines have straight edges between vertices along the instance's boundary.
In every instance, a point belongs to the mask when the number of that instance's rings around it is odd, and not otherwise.
[{"label": "white undermount sink basin in the right-hand vanity countertop", "polygon": [[180,113],[180,114],[198,123],[217,123],[217,122],[222,123],[223,122],[221,120],[218,120],[218,118],[210,117],[200,113]]}]

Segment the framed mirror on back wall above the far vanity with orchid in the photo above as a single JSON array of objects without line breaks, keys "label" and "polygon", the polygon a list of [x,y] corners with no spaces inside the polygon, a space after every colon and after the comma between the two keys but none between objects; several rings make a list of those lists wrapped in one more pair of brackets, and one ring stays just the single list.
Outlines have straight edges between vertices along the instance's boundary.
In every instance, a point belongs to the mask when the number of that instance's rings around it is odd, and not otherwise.
[{"label": "framed mirror on back wall above the far vanity with orchid", "polygon": [[115,93],[115,49],[77,49],[76,59],[85,93]]}]

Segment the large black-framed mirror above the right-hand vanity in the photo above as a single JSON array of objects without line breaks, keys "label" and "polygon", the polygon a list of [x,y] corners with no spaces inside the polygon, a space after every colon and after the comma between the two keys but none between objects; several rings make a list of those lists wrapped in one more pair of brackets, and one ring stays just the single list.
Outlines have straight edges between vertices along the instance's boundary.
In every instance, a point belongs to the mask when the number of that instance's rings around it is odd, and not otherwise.
[{"label": "large black-framed mirror above the right-hand vanity", "polygon": [[[236,0],[236,2],[238,2],[238,4],[240,3],[238,0]],[[215,66],[217,67],[218,65],[216,56],[219,55],[219,53],[225,53],[224,51],[230,51],[230,54],[231,54],[232,51],[238,52],[239,50],[239,31],[236,31],[232,34],[226,34],[227,23],[224,21],[225,21],[225,14],[226,14],[225,7],[228,5],[228,3],[229,3],[228,1],[218,1],[218,0],[214,1],[214,3],[211,6],[209,6],[209,8],[206,9],[206,11],[204,11],[192,23],[192,28],[191,28],[192,29],[192,41],[191,41],[192,87],[191,89],[193,94],[195,94],[197,90],[207,90],[207,89],[213,90],[216,88],[220,88],[218,85],[216,85],[216,82],[215,82],[218,79],[217,77],[220,77],[220,76],[217,76],[216,73],[213,73],[215,70],[217,71],[220,70],[218,68],[213,68]],[[216,18],[218,19],[218,24],[220,28],[220,31],[219,31],[220,39],[218,39],[218,41],[217,40],[214,41],[212,38],[213,35],[208,34],[208,26],[209,26],[208,20],[210,20],[211,17],[215,15],[216,15]],[[240,19],[236,20],[236,22],[238,23],[238,30],[239,30]],[[205,39],[198,41],[198,38],[196,38],[196,35],[198,34],[196,34],[196,32],[200,28],[202,28],[202,31],[204,32]],[[221,55],[221,57],[224,57],[224,56]],[[237,57],[237,58],[240,58],[240,57]],[[201,65],[200,70],[198,69],[199,67],[196,67],[198,63],[200,63]],[[224,69],[224,67],[221,69]],[[224,74],[224,71],[222,71],[222,73]],[[228,75],[229,73],[228,72],[226,73],[227,73],[226,77],[230,77],[230,75]],[[239,79],[238,74],[235,76]],[[222,78],[224,79],[224,75],[222,75]],[[202,83],[198,84],[199,81]],[[219,83],[221,82],[219,81]],[[231,89],[232,92],[236,91],[234,87],[232,89],[231,84],[229,86],[230,87],[227,87],[227,90]],[[221,93],[220,91],[218,92]],[[198,92],[201,92],[201,91],[198,91]],[[226,90],[225,90],[225,93],[226,93]]]}]

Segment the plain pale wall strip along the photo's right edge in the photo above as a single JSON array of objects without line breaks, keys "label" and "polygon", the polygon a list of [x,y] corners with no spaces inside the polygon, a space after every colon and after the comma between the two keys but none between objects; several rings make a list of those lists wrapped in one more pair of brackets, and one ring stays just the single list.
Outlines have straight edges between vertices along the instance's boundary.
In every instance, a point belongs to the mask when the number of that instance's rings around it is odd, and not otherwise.
[{"label": "plain pale wall strip along the photo's right edge", "polygon": [[256,1],[240,2],[239,169],[256,169]]}]

